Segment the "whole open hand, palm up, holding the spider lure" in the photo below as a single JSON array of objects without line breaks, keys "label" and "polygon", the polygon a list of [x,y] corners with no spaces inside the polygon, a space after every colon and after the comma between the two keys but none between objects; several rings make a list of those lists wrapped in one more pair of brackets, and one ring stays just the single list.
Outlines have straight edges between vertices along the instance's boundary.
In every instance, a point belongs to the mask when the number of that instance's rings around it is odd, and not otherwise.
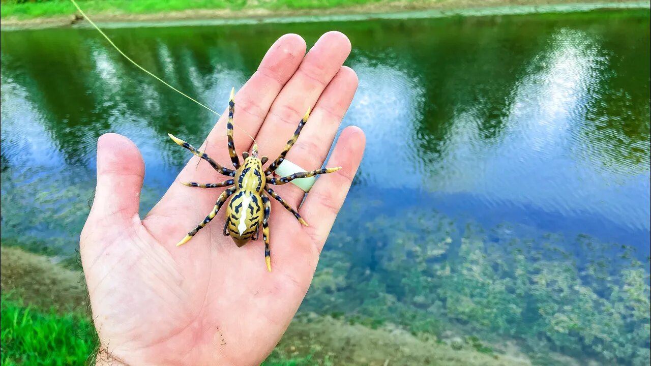
[{"label": "whole open hand, palm up, holding the spider lure", "polygon": [[[326,33],[307,55],[305,48],[297,35],[279,38],[236,94],[234,141],[240,155],[251,147],[243,129],[255,136],[260,154],[273,160],[313,107],[286,158],[307,170],[321,167],[326,159],[357,88],[357,76],[342,66],[350,42],[341,33]],[[226,106],[227,100],[223,102]],[[214,160],[227,165],[225,118],[206,141],[202,148],[207,146]],[[271,200],[270,273],[261,240],[238,248],[223,235],[223,210],[185,246],[174,246],[212,210],[223,191],[180,182],[217,183],[225,176],[204,161],[197,167],[199,158],[193,157],[141,219],[141,154],[126,137],[100,137],[96,196],[80,243],[104,349],[98,363],[107,354],[114,365],[260,363],[307,292],[363,148],[361,130],[350,127],[342,132],[328,164],[342,169],[318,179],[299,210],[309,227]],[[303,198],[303,191],[292,184],[276,191],[295,208]]]}]

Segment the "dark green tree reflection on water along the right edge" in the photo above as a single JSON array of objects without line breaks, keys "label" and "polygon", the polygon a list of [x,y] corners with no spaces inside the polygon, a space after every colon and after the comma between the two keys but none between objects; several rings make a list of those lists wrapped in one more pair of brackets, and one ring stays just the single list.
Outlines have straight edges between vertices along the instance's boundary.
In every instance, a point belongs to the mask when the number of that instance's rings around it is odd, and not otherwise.
[{"label": "dark green tree reflection on water along the right edge", "polygon": [[[651,75],[648,14],[613,21],[609,36],[600,39],[603,76],[581,124],[585,144],[581,154],[615,173],[635,175],[650,167]],[[635,34],[636,36],[631,36]]]}]

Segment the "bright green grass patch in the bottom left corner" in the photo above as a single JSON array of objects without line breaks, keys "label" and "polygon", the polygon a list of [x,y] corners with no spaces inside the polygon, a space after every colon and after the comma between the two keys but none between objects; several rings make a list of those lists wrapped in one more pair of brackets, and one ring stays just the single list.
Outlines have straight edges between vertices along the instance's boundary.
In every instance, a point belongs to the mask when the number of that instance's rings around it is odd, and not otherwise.
[{"label": "bright green grass patch in the bottom left corner", "polygon": [[38,310],[6,294],[1,307],[3,366],[84,365],[94,354],[96,336],[87,317]]}]

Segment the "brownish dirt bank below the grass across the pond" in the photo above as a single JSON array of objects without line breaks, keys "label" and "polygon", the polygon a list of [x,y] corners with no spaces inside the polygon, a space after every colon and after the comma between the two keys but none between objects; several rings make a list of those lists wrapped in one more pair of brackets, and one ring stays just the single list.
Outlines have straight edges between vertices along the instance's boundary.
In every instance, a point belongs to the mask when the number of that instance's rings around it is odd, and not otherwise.
[{"label": "brownish dirt bank below the grass across the pond", "polygon": [[[453,14],[464,14],[464,10],[477,10],[478,13],[494,9],[496,14],[508,14],[510,9],[514,13],[520,12],[555,12],[555,11],[581,11],[595,8],[619,7],[649,7],[649,1],[631,0],[387,0],[365,5],[338,5],[326,8],[279,8],[271,9],[247,5],[238,10],[230,9],[187,9],[182,11],[129,13],[124,11],[93,12],[88,11],[90,18],[97,23],[120,23],[120,26],[143,26],[144,23],[174,23],[178,21],[214,21],[222,20],[224,23],[249,21],[314,21],[319,19],[337,18],[339,16],[357,18],[374,18],[381,14],[400,16],[400,13],[413,13],[426,10],[441,10]],[[81,4],[83,6],[83,3]],[[526,9],[525,9],[526,8]],[[487,11],[488,10],[488,11]],[[288,19],[290,18],[290,19]],[[296,18],[296,19],[294,19]],[[3,17],[1,28],[3,30],[33,29],[43,27],[67,27],[70,25],[83,25],[72,9],[70,14],[58,16],[38,16],[36,18],[21,19],[16,16]],[[126,23],[126,24],[125,24]],[[115,26],[115,25],[113,25]]]}]

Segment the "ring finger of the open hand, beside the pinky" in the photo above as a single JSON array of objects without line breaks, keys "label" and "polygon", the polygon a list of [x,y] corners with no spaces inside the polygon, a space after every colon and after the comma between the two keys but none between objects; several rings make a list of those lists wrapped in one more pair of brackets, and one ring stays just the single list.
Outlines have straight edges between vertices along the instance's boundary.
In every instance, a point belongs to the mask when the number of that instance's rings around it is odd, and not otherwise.
[{"label": "ring finger of the open hand, beside the pinky", "polygon": [[[357,74],[352,68],[341,66],[316,102],[301,136],[288,152],[286,159],[303,167],[305,171],[320,168],[326,160],[341,120],[350,107],[356,90]],[[328,164],[328,167],[335,166],[338,165]],[[294,184],[286,184],[278,190],[281,197],[294,207],[301,202],[305,194]]]}]

